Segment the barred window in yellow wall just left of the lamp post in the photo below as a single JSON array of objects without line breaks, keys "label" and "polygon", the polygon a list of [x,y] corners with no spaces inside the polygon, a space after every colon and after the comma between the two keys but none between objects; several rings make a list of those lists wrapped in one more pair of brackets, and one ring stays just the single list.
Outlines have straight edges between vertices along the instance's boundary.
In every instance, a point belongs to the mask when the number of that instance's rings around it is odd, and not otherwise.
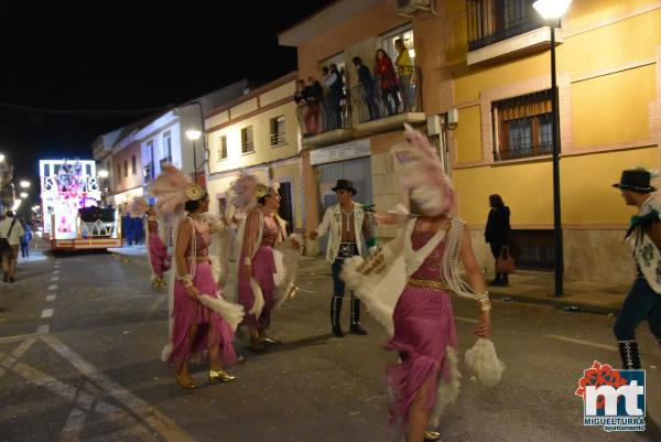
[{"label": "barred window in yellow wall just left of the lamp post", "polygon": [[494,103],[494,161],[553,152],[551,89]]}]

